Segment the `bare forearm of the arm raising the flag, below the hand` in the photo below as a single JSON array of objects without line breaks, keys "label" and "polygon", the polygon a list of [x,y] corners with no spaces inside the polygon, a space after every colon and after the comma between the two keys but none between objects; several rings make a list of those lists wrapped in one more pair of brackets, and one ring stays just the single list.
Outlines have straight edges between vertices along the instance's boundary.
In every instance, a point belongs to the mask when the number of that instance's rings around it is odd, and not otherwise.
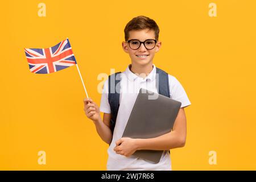
[{"label": "bare forearm of the arm raising the flag, below the hand", "polygon": [[109,127],[102,122],[101,118],[98,121],[94,121],[94,125],[96,126],[97,133],[100,135],[101,139],[110,144],[112,141],[112,131]]}]

